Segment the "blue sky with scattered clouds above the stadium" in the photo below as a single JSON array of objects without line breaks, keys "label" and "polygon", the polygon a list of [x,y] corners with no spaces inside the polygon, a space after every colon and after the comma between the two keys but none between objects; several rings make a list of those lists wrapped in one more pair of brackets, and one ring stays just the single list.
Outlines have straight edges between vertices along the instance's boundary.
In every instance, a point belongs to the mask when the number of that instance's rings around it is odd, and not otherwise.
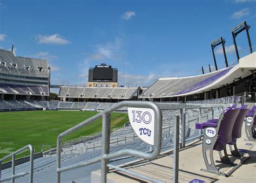
[{"label": "blue sky with scattered clouds above the stadium", "polygon": [[[226,40],[228,64],[237,59],[231,29],[246,21],[256,46],[256,2],[225,1],[12,1],[0,0],[0,48],[49,60],[51,84],[85,86],[88,69],[118,68],[118,83],[151,86],[163,77],[214,71],[210,43]],[[240,57],[249,53],[245,31]],[[218,68],[225,67],[221,46]],[[126,78],[126,82],[125,82]],[[126,84],[126,85],[125,85]]]}]

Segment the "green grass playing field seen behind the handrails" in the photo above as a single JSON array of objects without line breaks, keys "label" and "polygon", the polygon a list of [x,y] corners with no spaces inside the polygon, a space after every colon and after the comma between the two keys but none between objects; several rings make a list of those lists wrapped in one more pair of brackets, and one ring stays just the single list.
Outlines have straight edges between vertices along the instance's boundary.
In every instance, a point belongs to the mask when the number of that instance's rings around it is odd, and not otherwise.
[{"label": "green grass playing field seen behind the handrails", "polygon": [[[95,111],[19,111],[0,112],[0,158],[15,150],[32,144],[35,152],[40,152],[42,145],[56,144],[57,136],[96,115]],[[128,122],[127,114],[113,112],[111,129]],[[102,129],[102,119],[73,132],[65,139],[91,135]]]}]

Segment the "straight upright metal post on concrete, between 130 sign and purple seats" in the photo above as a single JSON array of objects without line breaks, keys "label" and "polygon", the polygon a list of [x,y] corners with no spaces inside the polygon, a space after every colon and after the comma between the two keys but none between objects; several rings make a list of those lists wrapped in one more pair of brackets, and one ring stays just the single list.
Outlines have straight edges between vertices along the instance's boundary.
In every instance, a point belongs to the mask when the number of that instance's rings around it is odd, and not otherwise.
[{"label": "straight upright metal post on concrete, between 130 sign and purple seats", "polygon": [[175,183],[178,183],[178,177],[179,177],[179,116],[176,116],[174,117],[172,181]]}]

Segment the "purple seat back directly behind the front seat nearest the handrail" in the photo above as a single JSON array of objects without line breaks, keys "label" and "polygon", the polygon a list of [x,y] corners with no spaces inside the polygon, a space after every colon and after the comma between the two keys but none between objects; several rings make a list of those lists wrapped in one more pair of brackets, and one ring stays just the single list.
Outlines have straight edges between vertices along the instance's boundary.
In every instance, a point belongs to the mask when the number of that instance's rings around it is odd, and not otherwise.
[{"label": "purple seat back directly behind the front seat nearest the handrail", "polygon": [[233,131],[232,131],[232,139],[233,138],[240,138],[242,134],[242,123],[247,115],[249,109],[240,109],[240,112],[235,119]]}]

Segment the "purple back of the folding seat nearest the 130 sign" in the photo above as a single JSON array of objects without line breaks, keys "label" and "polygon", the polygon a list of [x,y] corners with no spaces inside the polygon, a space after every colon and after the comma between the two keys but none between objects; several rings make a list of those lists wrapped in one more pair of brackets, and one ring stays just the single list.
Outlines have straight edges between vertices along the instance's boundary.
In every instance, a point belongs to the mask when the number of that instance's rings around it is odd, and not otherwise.
[{"label": "purple back of the folding seat nearest the 130 sign", "polygon": [[230,109],[225,112],[224,119],[221,121],[218,132],[219,138],[217,141],[221,144],[227,144],[231,142],[233,126],[239,112],[240,109]]}]

